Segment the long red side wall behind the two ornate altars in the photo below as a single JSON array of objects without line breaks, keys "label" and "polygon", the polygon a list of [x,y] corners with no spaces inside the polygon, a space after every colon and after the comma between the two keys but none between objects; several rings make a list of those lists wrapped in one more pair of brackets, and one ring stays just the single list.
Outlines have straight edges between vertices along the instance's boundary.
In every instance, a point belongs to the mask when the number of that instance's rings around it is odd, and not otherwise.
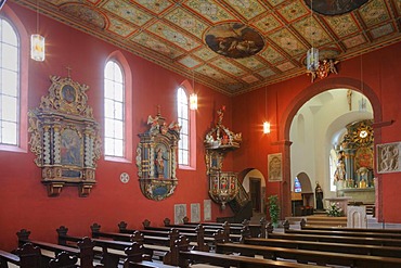
[{"label": "long red side wall behind the two ornate altars", "polygon": [[[8,2],[1,14],[21,20],[27,35],[36,30],[36,13],[25,8]],[[47,59],[44,62],[29,61],[26,78],[28,109],[37,107],[40,98],[48,93],[51,85],[49,76],[66,77],[66,66],[69,66],[72,78],[90,87],[87,92],[89,105],[102,126],[103,67],[107,56],[118,48],[44,16],[40,16],[40,31],[47,40]],[[176,90],[185,78],[127,51],[121,53],[132,71],[132,146],[135,149],[139,142],[137,135],[148,129],[145,122],[148,115],[157,113],[157,105],[161,105],[161,115],[168,123],[177,120]],[[118,230],[117,224],[121,220],[131,228],[141,228],[144,219],[151,220],[154,226],[161,226],[164,218],[173,219],[174,204],[186,204],[190,215],[190,204],[200,203],[203,219],[203,201],[209,199],[203,139],[214,126],[216,111],[221,105],[227,106],[224,125],[231,126],[232,105],[227,95],[198,84],[195,88],[199,94],[196,111],[197,168],[178,169],[176,192],[161,202],[142,195],[135,163],[108,162],[103,156],[98,162],[98,183],[88,197],[78,197],[77,188],[73,187],[63,189],[59,197],[48,197],[33,153],[0,151],[0,248],[15,248],[15,233],[22,228],[30,230],[33,239],[56,242],[55,229],[62,225],[77,235],[89,235],[89,227],[94,222],[105,231]],[[230,156],[224,162],[224,168],[231,170],[232,167]],[[119,181],[121,173],[130,175],[127,184]],[[229,208],[221,212],[220,206],[212,203],[212,219],[230,215]]]}]

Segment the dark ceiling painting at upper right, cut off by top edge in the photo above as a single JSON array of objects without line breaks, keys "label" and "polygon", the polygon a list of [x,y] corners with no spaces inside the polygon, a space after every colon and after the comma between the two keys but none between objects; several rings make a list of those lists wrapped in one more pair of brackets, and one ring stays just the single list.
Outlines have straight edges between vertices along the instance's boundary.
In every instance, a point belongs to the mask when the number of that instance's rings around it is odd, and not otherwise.
[{"label": "dark ceiling painting at upper right, cut off by top edge", "polygon": [[322,15],[341,15],[359,9],[365,4],[367,0],[305,0],[305,3],[314,12]]}]

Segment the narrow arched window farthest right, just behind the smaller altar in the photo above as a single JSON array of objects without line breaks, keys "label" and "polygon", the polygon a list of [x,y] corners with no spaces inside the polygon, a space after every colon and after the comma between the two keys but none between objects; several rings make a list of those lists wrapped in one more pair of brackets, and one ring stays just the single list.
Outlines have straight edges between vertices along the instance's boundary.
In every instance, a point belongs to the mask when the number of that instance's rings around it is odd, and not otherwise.
[{"label": "narrow arched window farthest right, just behind the smaller altar", "polygon": [[178,124],[181,126],[180,141],[178,143],[178,164],[190,166],[190,109],[185,89],[177,90]]}]

